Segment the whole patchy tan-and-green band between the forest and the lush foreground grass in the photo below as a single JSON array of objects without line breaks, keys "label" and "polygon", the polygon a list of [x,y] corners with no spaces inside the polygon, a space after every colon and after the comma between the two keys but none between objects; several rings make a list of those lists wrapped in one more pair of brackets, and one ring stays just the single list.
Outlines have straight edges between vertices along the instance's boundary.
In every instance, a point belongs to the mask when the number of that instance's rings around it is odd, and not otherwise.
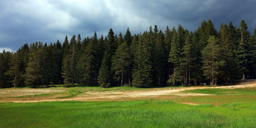
[{"label": "whole patchy tan-and-green band between the forest and the lush foreground grass", "polygon": [[[248,91],[250,94],[247,95]],[[246,95],[242,95],[245,94]],[[52,88],[10,88],[0,89],[0,102],[42,102],[42,101],[134,101],[172,100],[177,103],[197,105],[211,103],[218,106],[223,99],[256,100],[256,79],[241,80],[232,86],[219,87],[165,87],[141,89],[134,87],[52,87]],[[224,98],[225,97],[225,98]],[[200,100],[199,100],[200,99]],[[216,100],[214,100],[216,99]]]}]

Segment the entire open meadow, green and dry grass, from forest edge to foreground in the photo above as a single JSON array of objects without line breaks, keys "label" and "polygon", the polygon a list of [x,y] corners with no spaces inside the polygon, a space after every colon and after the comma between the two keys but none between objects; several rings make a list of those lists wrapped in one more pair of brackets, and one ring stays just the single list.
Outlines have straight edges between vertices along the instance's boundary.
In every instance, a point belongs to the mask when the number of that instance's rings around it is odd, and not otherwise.
[{"label": "entire open meadow, green and dry grass, from forest edge to foreground", "polygon": [[[30,89],[1,89],[0,127],[255,127],[256,88],[54,87],[24,95]],[[190,89],[190,88],[189,88]],[[169,92],[170,95],[168,95]],[[173,91],[173,92],[172,92]],[[177,92],[178,91],[178,92]],[[12,93],[20,96],[12,96]],[[5,94],[3,94],[5,93]],[[188,95],[189,93],[194,95]],[[31,93],[33,94],[33,93]],[[3,102],[79,99],[78,96],[122,97],[128,101]],[[132,98],[132,96],[140,96]],[[146,94],[153,94],[147,95]],[[158,96],[155,96],[159,94]],[[186,94],[186,95],[184,95]],[[211,95],[195,95],[211,94]],[[7,97],[5,97],[5,95]],[[31,97],[33,96],[33,97]],[[37,98],[37,99],[36,99]],[[187,104],[184,104],[187,103]],[[189,105],[194,104],[194,105]],[[195,105],[197,104],[197,105]]]}]

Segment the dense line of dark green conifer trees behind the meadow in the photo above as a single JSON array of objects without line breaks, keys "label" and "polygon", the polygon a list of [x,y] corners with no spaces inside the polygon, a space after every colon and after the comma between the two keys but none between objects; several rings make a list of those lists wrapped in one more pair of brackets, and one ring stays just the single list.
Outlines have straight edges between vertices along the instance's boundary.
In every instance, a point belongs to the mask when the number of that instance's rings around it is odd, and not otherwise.
[{"label": "dense line of dark green conifer trees behind the meadow", "polygon": [[16,52],[0,53],[0,86],[39,87],[49,84],[83,86],[163,87],[221,84],[256,78],[256,29],[242,19],[237,28],[209,19],[194,32],[181,25],[163,32],[157,26],[132,35],[98,38],[97,33],[54,44],[33,42]]}]

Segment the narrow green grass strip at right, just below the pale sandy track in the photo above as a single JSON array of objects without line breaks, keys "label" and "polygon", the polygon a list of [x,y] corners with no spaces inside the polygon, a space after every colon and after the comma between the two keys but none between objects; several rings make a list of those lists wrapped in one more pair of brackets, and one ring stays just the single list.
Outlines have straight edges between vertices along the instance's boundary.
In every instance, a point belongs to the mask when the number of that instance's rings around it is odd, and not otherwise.
[{"label": "narrow green grass strip at right, just below the pale sandy track", "polygon": [[215,95],[227,95],[227,94],[256,94],[256,88],[240,88],[240,89],[197,89],[184,91],[185,93],[204,93]]}]

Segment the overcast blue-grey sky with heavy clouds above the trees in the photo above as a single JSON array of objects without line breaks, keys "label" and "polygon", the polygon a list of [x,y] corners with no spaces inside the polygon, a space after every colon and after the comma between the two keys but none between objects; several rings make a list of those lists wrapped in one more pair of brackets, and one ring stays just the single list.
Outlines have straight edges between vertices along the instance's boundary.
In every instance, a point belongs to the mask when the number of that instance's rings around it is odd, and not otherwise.
[{"label": "overcast blue-grey sky with heavy clouds above the trees", "polygon": [[132,34],[157,25],[165,30],[181,24],[195,31],[203,19],[209,18],[217,30],[220,24],[239,26],[241,19],[252,33],[256,28],[255,0],[1,0],[0,1],[0,52],[16,51],[25,43],[35,41],[56,42],[68,35],[91,37],[105,36],[112,28]]}]

